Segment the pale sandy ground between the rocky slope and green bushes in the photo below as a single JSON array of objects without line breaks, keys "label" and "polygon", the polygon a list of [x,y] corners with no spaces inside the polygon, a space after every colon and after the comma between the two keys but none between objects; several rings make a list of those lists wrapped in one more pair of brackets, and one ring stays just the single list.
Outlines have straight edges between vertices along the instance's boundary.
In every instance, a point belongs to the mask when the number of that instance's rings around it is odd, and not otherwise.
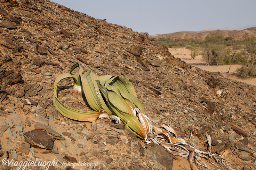
[{"label": "pale sandy ground between the rocky slope and green bushes", "polygon": [[[243,78],[238,78],[236,76],[231,76],[233,72],[236,71],[236,68],[240,68],[241,65],[239,64],[233,64],[233,65],[216,65],[216,66],[209,66],[206,65],[206,62],[202,59],[202,55],[198,55],[195,57],[195,59],[191,60],[190,56],[190,50],[186,48],[169,48],[169,51],[171,52],[172,55],[174,55],[175,58],[180,58],[181,60],[184,60],[186,63],[191,64],[195,67],[198,67],[202,70],[206,71],[212,71],[212,72],[220,72],[221,75],[224,77],[241,81],[244,83],[248,83],[250,85],[256,85],[256,78],[251,78],[251,79],[243,79]],[[230,70],[229,70],[230,67]],[[229,72],[228,72],[229,70]],[[227,73],[228,72],[228,73]]]}]

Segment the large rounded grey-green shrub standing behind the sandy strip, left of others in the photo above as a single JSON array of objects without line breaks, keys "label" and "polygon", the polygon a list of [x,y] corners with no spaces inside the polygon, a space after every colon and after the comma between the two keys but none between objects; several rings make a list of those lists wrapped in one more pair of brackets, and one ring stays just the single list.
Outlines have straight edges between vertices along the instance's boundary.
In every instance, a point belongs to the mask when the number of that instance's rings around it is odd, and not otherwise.
[{"label": "large rounded grey-green shrub standing behind the sandy strip, left of others", "polygon": [[202,58],[209,65],[224,64],[224,59],[227,57],[226,46],[206,43],[202,46]]}]

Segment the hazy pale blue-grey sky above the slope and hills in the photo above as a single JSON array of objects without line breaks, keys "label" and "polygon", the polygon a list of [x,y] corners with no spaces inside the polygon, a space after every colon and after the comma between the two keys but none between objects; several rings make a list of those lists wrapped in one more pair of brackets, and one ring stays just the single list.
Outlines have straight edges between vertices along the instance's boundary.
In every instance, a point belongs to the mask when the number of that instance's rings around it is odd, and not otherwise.
[{"label": "hazy pale blue-grey sky above the slope and hills", "polygon": [[256,25],[256,0],[52,0],[149,35]]}]

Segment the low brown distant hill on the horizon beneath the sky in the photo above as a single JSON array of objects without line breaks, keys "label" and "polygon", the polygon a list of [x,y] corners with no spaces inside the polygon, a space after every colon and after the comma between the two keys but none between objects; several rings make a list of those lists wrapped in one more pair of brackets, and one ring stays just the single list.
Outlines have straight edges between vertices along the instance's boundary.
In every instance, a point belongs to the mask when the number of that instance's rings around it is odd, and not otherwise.
[{"label": "low brown distant hill on the horizon beneath the sky", "polygon": [[206,36],[221,35],[224,38],[234,37],[236,40],[244,40],[245,38],[256,37],[256,27],[247,28],[244,30],[204,30],[204,31],[180,31],[168,34],[155,34],[152,37],[176,39],[198,39],[204,40]]}]

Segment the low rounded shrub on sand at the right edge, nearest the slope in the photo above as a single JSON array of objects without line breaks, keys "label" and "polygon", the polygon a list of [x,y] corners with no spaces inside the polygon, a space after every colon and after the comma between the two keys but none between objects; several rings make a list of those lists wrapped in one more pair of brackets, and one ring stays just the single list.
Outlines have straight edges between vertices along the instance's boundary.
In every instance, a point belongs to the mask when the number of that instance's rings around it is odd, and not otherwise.
[{"label": "low rounded shrub on sand at the right edge, nearest the slope", "polygon": [[252,63],[244,64],[241,68],[236,69],[235,75],[241,78],[255,78],[256,65]]}]

